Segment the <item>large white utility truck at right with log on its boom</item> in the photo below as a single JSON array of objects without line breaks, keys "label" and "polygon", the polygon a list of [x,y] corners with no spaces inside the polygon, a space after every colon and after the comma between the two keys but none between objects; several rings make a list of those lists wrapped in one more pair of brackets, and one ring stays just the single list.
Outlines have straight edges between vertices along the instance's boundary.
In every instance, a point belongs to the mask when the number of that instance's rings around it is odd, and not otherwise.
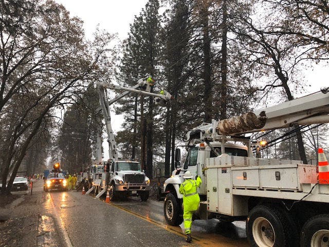
[{"label": "large white utility truck at right with log on its boom", "polygon": [[182,222],[179,186],[190,171],[203,181],[196,219],[246,220],[251,246],[329,246],[329,181],[319,183],[317,167],[302,161],[254,157],[243,135],[329,122],[328,89],[188,131],[186,160],[180,165],[176,148],[176,169],[162,190],[166,221]]}]

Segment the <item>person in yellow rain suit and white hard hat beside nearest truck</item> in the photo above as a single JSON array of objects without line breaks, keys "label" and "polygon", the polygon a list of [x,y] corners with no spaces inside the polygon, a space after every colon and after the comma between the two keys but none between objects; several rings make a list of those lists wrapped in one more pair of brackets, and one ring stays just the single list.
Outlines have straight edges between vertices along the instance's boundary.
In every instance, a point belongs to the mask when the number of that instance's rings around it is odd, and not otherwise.
[{"label": "person in yellow rain suit and white hard hat beside nearest truck", "polygon": [[184,228],[186,233],[185,241],[190,243],[191,239],[191,226],[192,226],[192,216],[193,213],[197,210],[200,203],[200,198],[197,193],[197,188],[200,187],[202,180],[198,175],[195,179],[192,179],[190,171],[186,171],[183,178],[185,181],[179,187],[179,193],[183,195],[183,219],[184,219]]}]

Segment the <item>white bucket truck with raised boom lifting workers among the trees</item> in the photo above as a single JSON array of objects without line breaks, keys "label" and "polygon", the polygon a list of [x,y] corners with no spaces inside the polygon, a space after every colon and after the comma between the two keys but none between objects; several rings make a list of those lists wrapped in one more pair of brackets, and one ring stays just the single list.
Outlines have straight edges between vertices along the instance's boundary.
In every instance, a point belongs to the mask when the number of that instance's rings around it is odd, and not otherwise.
[{"label": "white bucket truck with raised boom lifting workers among the trees", "polygon": [[[91,166],[86,174],[82,175],[82,177],[88,178],[90,185],[86,194],[94,190],[96,195],[95,198],[99,198],[108,190],[109,198],[111,200],[115,200],[119,196],[139,196],[142,201],[148,200],[150,179],[145,175],[144,171],[141,170],[139,162],[122,160],[118,156],[117,145],[111,125],[109,105],[131,92],[155,97],[156,104],[166,103],[171,99],[171,95],[165,90],[162,90],[160,94],[151,93],[153,85],[154,80],[151,77],[139,79],[137,84],[131,88],[113,83],[97,83],[99,102],[107,132],[109,160],[107,162],[102,162],[100,137],[102,130],[100,130],[97,142],[97,164]],[[108,101],[106,97],[106,89],[120,90],[124,91],[124,93]]]}]

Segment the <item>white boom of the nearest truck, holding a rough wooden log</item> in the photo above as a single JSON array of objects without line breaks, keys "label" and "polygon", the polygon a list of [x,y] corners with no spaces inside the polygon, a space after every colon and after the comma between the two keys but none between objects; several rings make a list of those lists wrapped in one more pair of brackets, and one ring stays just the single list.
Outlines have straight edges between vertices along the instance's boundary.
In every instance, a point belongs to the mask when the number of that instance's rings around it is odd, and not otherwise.
[{"label": "white boom of the nearest truck, holding a rough wooden log", "polygon": [[187,133],[185,141],[191,139],[213,139],[228,135],[281,129],[297,125],[329,122],[328,88],[321,92],[286,101],[273,107],[263,108],[241,116],[212,123],[204,123]]}]

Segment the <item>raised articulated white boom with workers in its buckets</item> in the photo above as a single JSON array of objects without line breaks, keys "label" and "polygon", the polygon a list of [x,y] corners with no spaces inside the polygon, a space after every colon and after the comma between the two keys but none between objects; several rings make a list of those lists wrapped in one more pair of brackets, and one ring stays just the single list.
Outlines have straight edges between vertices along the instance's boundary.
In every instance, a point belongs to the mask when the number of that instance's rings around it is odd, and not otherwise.
[{"label": "raised articulated white boom with workers in its buckets", "polygon": [[[109,151],[108,151],[109,158],[113,158],[113,159],[118,158],[117,145],[116,145],[116,141],[114,138],[112,125],[111,125],[111,112],[109,109],[109,105],[113,104],[114,102],[116,102],[117,100],[121,99],[122,97],[126,96],[127,94],[129,94],[131,92],[136,93],[136,94],[153,96],[153,97],[159,98],[165,102],[167,102],[171,99],[171,95],[167,91],[164,91],[164,90],[161,91],[162,92],[161,94],[151,93],[152,86],[153,86],[153,80],[150,77],[145,77],[145,78],[139,79],[137,81],[137,84],[135,86],[133,86],[132,88],[115,85],[113,83],[106,83],[106,82],[97,83],[99,103],[101,105],[101,109],[103,112],[105,126],[106,126],[106,132],[107,132],[107,142],[108,142],[108,146],[109,146]],[[123,90],[125,92],[123,94],[117,96],[116,98],[112,99],[111,101],[107,101],[106,94],[105,94],[106,89]]]}]

